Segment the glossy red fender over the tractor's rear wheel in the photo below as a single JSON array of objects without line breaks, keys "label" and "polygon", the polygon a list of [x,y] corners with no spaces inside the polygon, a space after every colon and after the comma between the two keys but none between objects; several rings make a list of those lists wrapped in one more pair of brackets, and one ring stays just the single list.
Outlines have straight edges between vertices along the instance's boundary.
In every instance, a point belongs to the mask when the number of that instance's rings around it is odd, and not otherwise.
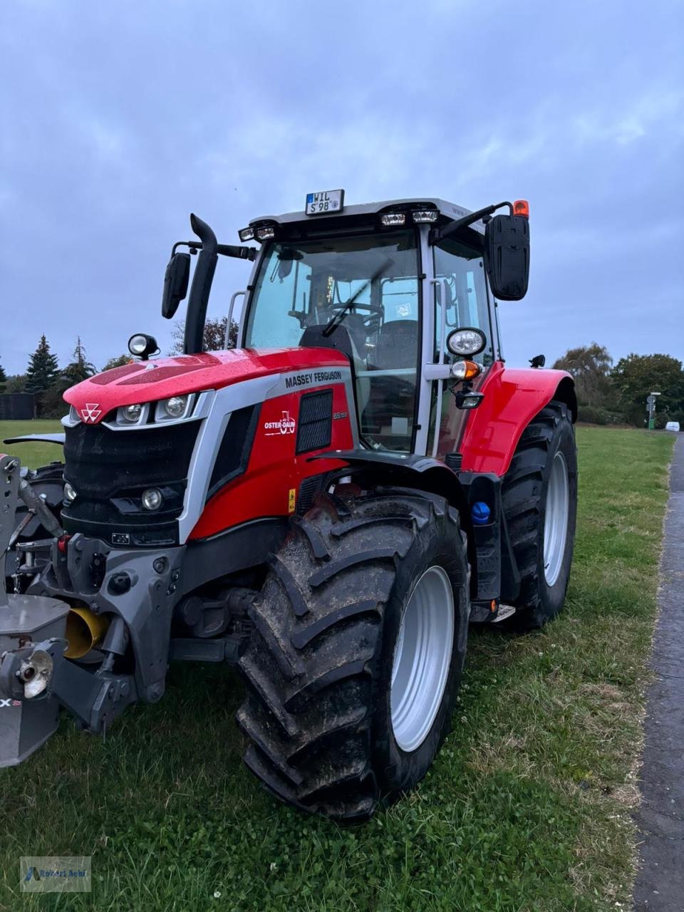
[{"label": "glossy red fender over the tractor's rear wheel", "polygon": [[565,370],[504,368],[496,362],[479,391],[484,399],[461,438],[464,472],[504,475],[523,430],[552,399],[565,402],[573,421],[577,418],[575,381]]}]

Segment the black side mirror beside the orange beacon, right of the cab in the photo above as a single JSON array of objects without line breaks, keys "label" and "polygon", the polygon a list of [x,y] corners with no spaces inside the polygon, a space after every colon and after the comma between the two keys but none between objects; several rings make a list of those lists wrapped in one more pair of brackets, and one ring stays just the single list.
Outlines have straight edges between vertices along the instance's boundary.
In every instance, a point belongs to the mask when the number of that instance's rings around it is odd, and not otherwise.
[{"label": "black side mirror beside the orange beacon, right of the cab", "polygon": [[484,263],[494,297],[520,301],[530,275],[530,222],[524,215],[494,215],[484,230]]}]

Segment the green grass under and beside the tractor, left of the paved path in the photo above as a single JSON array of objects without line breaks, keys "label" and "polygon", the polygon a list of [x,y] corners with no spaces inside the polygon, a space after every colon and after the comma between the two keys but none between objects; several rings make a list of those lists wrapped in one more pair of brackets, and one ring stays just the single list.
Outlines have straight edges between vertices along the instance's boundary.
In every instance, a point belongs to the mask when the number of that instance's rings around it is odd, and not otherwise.
[{"label": "green grass under and beside the tractor, left of the paved path", "polygon": [[[174,666],[164,700],[128,710],[106,742],[65,718],[47,750],[0,771],[0,908],[627,904],[672,438],[589,428],[577,438],[565,613],[527,637],[472,632],[454,729],[417,792],[356,829],[285,808],[240,762],[239,680]],[[92,895],[21,896],[19,855],[57,854],[92,855]]]}]

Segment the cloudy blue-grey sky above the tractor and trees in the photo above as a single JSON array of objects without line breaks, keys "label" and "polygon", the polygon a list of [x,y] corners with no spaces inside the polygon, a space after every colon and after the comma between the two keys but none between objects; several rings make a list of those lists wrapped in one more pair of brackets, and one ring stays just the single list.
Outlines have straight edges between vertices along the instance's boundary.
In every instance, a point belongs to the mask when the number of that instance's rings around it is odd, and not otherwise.
[{"label": "cloudy blue-grey sky above the tractor and trees", "polygon": [[[508,363],[684,359],[684,4],[5,0],[0,364],[45,333],[98,368],[168,350],[161,287],[197,212],[227,244],[306,192],[527,199]],[[210,316],[248,264],[217,268]]]}]

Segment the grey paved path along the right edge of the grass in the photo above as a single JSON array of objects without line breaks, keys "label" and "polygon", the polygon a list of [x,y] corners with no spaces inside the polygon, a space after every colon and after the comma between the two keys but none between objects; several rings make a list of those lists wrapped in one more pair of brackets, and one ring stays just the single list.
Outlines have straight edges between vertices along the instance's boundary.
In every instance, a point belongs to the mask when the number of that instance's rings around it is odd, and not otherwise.
[{"label": "grey paved path along the right edge of the grass", "polygon": [[684,912],[684,434],[678,435],[660,567],[637,824],[637,912]]}]

